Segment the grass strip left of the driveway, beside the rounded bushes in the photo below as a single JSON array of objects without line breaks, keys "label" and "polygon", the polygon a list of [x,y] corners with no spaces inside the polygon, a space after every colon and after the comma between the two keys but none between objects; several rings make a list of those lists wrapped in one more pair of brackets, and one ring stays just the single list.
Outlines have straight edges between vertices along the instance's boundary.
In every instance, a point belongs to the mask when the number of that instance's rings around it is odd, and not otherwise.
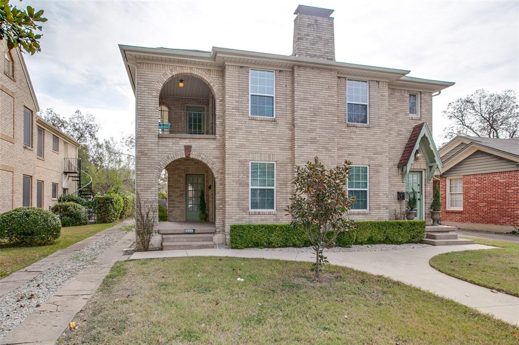
[{"label": "grass strip left of the driveway, beside the rounded bushes", "polygon": [[61,229],[61,236],[52,245],[36,247],[0,248],[0,279],[19,269],[74,243],[95,235],[116,223],[69,226]]}]

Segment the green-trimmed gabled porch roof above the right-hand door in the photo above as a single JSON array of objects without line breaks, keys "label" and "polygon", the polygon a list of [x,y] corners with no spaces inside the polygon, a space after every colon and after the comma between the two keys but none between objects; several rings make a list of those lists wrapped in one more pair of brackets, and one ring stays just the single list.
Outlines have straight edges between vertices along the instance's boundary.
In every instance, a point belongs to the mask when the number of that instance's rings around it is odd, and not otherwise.
[{"label": "green-trimmed gabled porch roof above the right-hand door", "polygon": [[427,123],[422,122],[413,127],[413,131],[411,131],[411,135],[409,135],[409,139],[398,162],[398,168],[402,173],[402,181],[405,181],[409,170],[411,170],[411,166],[415,160],[415,152],[418,148],[422,149],[422,153],[427,161],[427,181],[432,179],[436,169],[440,171],[440,174],[442,173],[442,159],[440,158],[438,149],[436,149]]}]

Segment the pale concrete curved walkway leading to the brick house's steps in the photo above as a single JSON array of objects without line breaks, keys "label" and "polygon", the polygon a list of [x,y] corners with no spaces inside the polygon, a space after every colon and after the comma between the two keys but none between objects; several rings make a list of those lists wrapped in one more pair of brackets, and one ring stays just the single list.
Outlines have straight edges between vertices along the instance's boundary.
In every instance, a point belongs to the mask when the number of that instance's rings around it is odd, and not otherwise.
[{"label": "pale concrete curved walkway leading to the brick house's steps", "polygon": [[[482,245],[442,246],[415,249],[366,252],[327,252],[331,264],[350,267],[374,275],[385,276],[420,287],[436,295],[489,313],[519,326],[519,297],[494,293],[486,287],[449,277],[431,266],[431,257],[452,251],[491,249]],[[134,253],[130,260],[180,256],[259,257],[291,261],[315,261],[311,252],[281,250],[195,249]]]}]

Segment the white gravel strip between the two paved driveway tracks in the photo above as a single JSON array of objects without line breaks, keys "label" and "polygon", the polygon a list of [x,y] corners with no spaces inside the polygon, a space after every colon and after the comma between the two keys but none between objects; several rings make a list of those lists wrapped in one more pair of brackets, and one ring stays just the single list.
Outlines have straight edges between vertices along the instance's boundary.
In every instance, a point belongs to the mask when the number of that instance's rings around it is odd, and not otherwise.
[{"label": "white gravel strip between the two paved driveway tracks", "polygon": [[126,234],[118,228],[108,231],[87,247],[65,257],[31,281],[0,297],[0,339]]}]

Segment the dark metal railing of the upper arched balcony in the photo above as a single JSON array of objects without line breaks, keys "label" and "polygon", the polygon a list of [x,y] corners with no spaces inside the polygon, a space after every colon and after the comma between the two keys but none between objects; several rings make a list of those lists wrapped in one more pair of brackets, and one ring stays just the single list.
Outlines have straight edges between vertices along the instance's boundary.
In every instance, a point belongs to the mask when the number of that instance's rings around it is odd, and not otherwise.
[{"label": "dark metal railing of the upper arched balcony", "polygon": [[159,134],[214,135],[216,116],[210,112],[175,111],[172,122],[158,123]]}]

